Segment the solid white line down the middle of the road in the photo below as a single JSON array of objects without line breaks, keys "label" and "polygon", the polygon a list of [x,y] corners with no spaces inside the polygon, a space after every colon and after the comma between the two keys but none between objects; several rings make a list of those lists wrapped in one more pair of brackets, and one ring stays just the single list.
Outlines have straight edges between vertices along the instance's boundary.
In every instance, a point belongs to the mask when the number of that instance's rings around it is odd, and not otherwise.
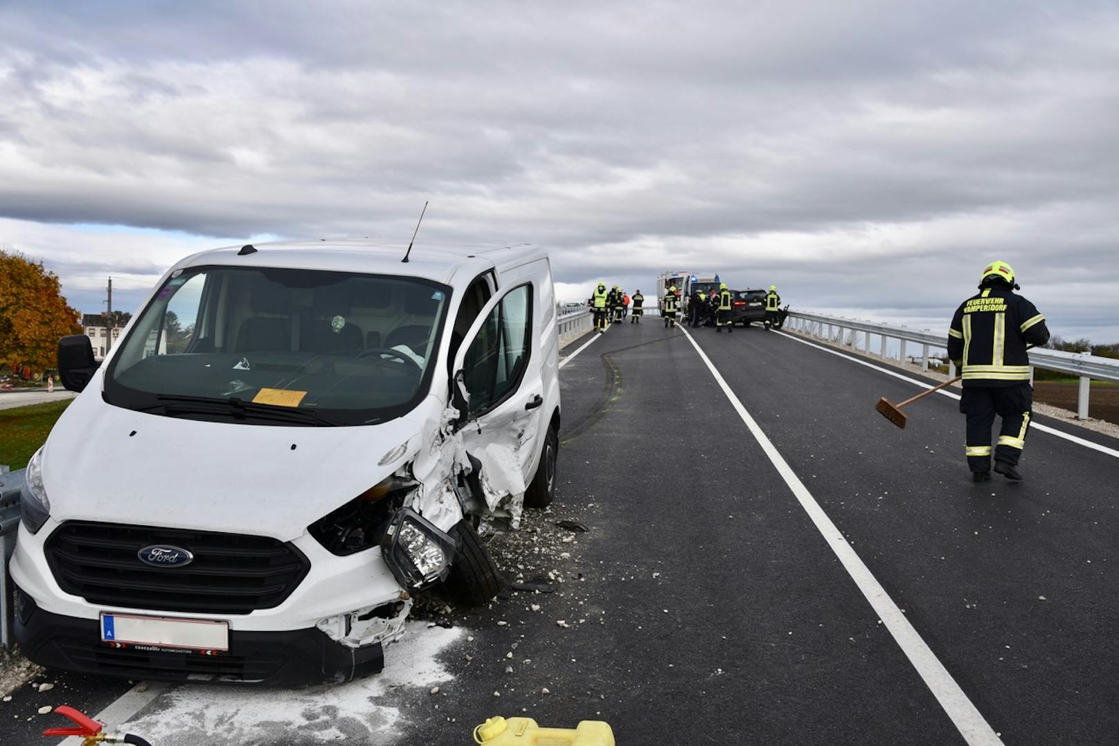
[{"label": "solid white line down the middle of the road", "polygon": [[812,523],[816,525],[817,530],[827,541],[831,551],[835,553],[836,557],[843,564],[844,569],[847,570],[847,575],[855,582],[858,589],[863,593],[866,599],[871,603],[875,613],[882,620],[882,623],[890,630],[890,634],[893,635],[897,645],[902,649],[902,652],[909,659],[913,668],[916,669],[918,674],[924,680],[924,683],[932,691],[933,697],[940,702],[944,712],[951,719],[952,725],[960,731],[963,739],[969,744],[969,746],[1004,746],[1003,740],[998,737],[995,730],[990,727],[987,720],[984,718],[982,714],[976,709],[976,706],[971,703],[960,686],[956,683],[952,676],[948,672],[929,645],[925,644],[921,635],[918,634],[913,625],[910,624],[909,620],[902,613],[897,604],[890,597],[885,588],[878,583],[878,580],[871,573],[869,568],[863,563],[859,556],[855,553],[847,539],[844,538],[839,529],[836,528],[831,519],[828,518],[824,509],[820,508],[819,503],[812,497],[812,493],[808,491],[805,483],[800,481],[792,468],[784,457],[778,452],[773,443],[767,437],[765,433],[758,425],[754,418],[746,412],[746,408],[742,405],[739,397],[731,390],[726,380],[720,375],[715,366],[712,365],[711,359],[707,355],[699,348],[699,344],[692,338],[692,334],[687,332],[686,329],[680,331],[688,338],[692,342],[692,347],[696,348],[696,352],[699,353],[699,359],[704,361],[707,369],[711,370],[711,375],[715,377],[715,381],[726,394],[726,398],[731,400],[734,409],[742,417],[742,422],[746,424],[750,433],[758,441],[758,444],[769,456],[769,460],[777,468],[778,473],[784,480],[784,483],[789,485],[792,490],[793,495],[800,502],[800,506],[808,513],[808,517],[812,519]]}]

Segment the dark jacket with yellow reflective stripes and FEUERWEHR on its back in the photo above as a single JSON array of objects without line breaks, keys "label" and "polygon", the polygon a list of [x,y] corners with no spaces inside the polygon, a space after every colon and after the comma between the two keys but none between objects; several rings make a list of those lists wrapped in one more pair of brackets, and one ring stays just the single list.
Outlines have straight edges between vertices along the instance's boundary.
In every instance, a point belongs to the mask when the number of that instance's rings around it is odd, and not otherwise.
[{"label": "dark jacket with yellow reflective stripes and FEUERWEHR on its back", "polygon": [[984,287],[956,310],[948,357],[959,361],[965,386],[1014,386],[1029,380],[1026,344],[1049,341],[1045,317],[1009,287]]}]

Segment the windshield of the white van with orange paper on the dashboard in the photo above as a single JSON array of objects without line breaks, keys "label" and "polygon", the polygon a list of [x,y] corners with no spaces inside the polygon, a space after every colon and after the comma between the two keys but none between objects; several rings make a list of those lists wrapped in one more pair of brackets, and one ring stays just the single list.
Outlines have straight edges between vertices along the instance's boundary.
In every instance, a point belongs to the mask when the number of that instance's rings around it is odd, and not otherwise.
[{"label": "windshield of the white van with orange paper on the dashboard", "polygon": [[427,390],[450,294],[416,277],[184,270],[133,322],[105,399],[254,425],[396,417]]}]

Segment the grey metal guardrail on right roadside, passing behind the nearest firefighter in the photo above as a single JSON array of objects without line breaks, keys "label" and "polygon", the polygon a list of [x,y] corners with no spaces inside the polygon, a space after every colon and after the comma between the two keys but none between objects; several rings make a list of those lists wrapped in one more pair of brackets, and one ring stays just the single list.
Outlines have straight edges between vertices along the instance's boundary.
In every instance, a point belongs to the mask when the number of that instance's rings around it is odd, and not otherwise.
[{"label": "grey metal guardrail on right roadside, passing behind the nearest firefighter", "polygon": [[[927,329],[909,329],[906,327],[894,327],[891,324],[876,323],[873,321],[859,321],[856,319],[845,319],[843,317],[829,317],[820,313],[806,313],[802,311],[790,311],[786,327],[798,332],[826,339],[831,342],[847,344],[852,349],[858,349],[859,338],[865,339],[863,349],[871,351],[872,337],[880,338],[880,355],[887,357],[887,340],[895,339],[900,342],[899,360],[904,361],[905,347],[908,343],[921,346],[921,370],[929,370],[929,359],[933,351],[943,350],[947,358],[948,337],[931,332]],[[1088,419],[1088,403],[1091,394],[1091,381],[1107,380],[1119,381],[1119,360],[1101,358],[1087,352],[1065,352],[1063,350],[1034,349],[1029,350],[1029,380],[1033,383],[1034,368],[1044,370],[1055,370],[1068,374],[1080,379],[1079,396],[1076,402],[1076,416],[1080,419]],[[949,360],[948,375],[956,376],[956,366]]]}]

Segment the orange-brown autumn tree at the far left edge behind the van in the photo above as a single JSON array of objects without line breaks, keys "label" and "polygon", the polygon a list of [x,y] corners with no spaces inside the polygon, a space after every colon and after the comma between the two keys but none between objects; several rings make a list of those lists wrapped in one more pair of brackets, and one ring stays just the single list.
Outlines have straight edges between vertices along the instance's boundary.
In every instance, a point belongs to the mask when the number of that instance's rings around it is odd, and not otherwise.
[{"label": "orange-brown autumn tree at the far left edge behind the van", "polygon": [[0,365],[54,368],[58,340],[81,334],[58,276],[18,252],[0,249]]}]

